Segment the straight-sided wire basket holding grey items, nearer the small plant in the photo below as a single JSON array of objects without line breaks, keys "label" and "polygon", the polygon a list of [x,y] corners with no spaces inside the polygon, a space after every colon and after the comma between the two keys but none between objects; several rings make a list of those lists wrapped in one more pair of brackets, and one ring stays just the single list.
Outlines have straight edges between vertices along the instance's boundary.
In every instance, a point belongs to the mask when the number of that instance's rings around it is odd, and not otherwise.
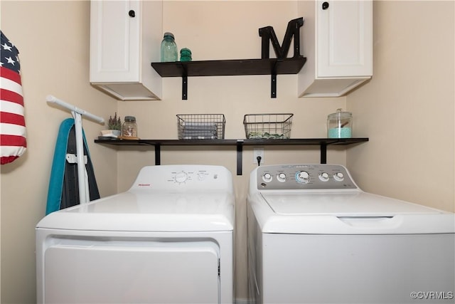
[{"label": "straight-sided wire basket holding grey items, nearer the small plant", "polygon": [[225,125],[226,120],[223,114],[178,114],[178,139],[223,140]]}]

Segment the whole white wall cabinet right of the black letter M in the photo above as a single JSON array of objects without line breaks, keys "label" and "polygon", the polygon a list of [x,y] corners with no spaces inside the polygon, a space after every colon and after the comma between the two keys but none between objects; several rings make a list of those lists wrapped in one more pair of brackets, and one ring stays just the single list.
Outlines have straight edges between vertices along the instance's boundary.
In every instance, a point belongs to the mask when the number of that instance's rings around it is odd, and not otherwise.
[{"label": "whole white wall cabinet right of the black letter M", "polygon": [[299,97],[345,95],[373,75],[373,3],[299,1],[301,55]]}]

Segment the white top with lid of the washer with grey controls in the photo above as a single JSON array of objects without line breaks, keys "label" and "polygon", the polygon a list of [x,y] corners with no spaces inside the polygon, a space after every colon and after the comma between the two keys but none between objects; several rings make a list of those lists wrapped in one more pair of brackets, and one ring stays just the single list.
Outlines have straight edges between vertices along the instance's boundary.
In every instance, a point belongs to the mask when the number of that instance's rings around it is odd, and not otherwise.
[{"label": "white top with lid of the washer with grey controls", "polygon": [[450,212],[365,192],[267,193],[248,201],[263,233],[455,233]]}]

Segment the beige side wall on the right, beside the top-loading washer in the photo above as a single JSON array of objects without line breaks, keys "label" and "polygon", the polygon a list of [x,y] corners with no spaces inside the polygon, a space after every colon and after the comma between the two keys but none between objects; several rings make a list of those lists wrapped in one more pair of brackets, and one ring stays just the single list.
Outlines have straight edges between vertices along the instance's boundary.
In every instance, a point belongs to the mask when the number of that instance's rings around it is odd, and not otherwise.
[{"label": "beige side wall on the right, beside the top-loading washer", "polygon": [[365,191],[454,211],[454,1],[375,1],[373,80],[347,98]]}]

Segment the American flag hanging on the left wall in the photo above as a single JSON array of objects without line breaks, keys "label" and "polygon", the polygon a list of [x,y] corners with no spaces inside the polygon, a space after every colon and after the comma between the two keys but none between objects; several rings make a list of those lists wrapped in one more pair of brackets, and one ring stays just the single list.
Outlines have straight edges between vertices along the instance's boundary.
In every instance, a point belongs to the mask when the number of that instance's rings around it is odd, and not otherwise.
[{"label": "American flag hanging on the left wall", "polygon": [[26,151],[26,122],[19,51],[0,33],[0,163],[8,164]]}]

